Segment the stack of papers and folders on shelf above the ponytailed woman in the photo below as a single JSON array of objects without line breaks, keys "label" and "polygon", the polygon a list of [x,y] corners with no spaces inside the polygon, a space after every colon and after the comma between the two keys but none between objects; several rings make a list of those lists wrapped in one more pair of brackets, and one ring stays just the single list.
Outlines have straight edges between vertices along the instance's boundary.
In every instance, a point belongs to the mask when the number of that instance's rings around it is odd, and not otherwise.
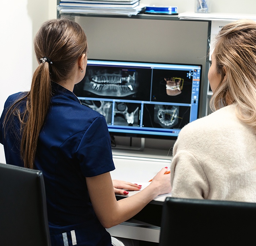
[{"label": "stack of papers and folders on shelf above the ponytailed woman", "polygon": [[139,0],[61,0],[57,9],[60,14],[137,15],[145,5]]}]

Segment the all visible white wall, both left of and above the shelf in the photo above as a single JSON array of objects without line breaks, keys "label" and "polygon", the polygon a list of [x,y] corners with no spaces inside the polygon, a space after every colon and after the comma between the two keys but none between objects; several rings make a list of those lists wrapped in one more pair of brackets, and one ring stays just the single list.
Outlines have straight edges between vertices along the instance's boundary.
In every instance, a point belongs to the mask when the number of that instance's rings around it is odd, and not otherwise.
[{"label": "all visible white wall, both left of and above the shelf", "polygon": [[[194,0],[141,0],[142,3],[177,6],[178,12],[193,11]],[[56,18],[57,0],[1,1],[0,22],[0,112],[7,97],[30,88],[37,64],[33,38],[47,19]],[[256,13],[255,0],[212,0],[212,12]],[[5,162],[0,146],[0,162]]]}]

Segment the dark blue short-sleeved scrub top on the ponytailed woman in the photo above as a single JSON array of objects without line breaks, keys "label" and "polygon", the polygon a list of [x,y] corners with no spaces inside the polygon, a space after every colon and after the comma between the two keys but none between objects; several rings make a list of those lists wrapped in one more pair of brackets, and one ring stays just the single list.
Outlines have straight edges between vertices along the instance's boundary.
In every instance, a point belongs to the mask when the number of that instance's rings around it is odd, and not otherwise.
[{"label": "dark blue short-sleeved scrub top on the ponytailed woman", "polygon": [[[106,120],[82,105],[71,91],[54,82],[52,87],[51,106],[35,157],[35,169],[44,174],[52,244],[111,245],[110,236],[90,203],[85,179],[114,170]],[[15,117],[4,138],[3,120],[8,107],[22,95],[8,97],[0,119],[0,142],[4,145],[6,163],[17,166],[23,166],[20,124]],[[19,105],[21,111],[25,103],[23,100]]]}]

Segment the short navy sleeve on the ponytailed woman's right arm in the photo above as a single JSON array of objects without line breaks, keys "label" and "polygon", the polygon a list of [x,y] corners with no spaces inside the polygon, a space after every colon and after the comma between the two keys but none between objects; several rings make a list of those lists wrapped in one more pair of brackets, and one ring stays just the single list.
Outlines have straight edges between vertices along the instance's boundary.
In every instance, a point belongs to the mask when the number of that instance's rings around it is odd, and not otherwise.
[{"label": "short navy sleeve on the ponytailed woman's right arm", "polygon": [[76,158],[85,177],[93,177],[115,169],[108,126],[99,116],[84,132],[76,150]]}]

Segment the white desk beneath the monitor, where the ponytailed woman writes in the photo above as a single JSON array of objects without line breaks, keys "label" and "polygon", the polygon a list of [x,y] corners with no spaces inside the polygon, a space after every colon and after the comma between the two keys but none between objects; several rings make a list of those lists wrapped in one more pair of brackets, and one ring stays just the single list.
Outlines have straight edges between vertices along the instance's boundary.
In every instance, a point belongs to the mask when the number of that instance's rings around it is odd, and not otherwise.
[{"label": "white desk beneath the monitor, where the ponytailed woman writes", "polygon": [[[111,172],[112,179],[125,180],[136,184],[145,185],[151,178],[155,176],[164,167],[170,167],[171,159],[145,158],[145,157],[129,157],[113,155],[116,170]],[[136,191],[130,191],[129,196],[134,195]],[[154,206],[153,211],[157,216],[161,216],[162,203],[166,196],[171,194],[161,195],[156,197],[147,206]],[[122,199],[125,196],[117,196],[117,199]],[[147,207],[146,206],[146,207]],[[147,221],[150,222],[150,216],[147,214],[150,208],[144,208]],[[142,212],[143,212],[142,210]],[[145,215],[142,215],[142,218]],[[161,218],[158,218],[159,221]],[[142,220],[131,219],[117,226],[107,229],[113,237],[131,238],[148,242],[159,242],[160,225],[154,225]]]}]

